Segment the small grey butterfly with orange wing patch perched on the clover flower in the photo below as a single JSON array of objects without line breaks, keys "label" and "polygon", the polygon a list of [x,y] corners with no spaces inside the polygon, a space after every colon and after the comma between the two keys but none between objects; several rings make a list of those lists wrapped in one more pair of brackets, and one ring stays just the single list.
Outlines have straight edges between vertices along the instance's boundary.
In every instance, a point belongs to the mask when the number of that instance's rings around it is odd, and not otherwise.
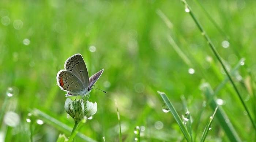
[{"label": "small grey butterfly with orange wing patch perched on the clover flower", "polygon": [[66,91],[65,96],[86,95],[91,92],[94,83],[97,82],[104,69],[96,72],[89,78],[88,71],[81,54],[69,57],[65,64],[65,70],[57,73],[57,85]]}]

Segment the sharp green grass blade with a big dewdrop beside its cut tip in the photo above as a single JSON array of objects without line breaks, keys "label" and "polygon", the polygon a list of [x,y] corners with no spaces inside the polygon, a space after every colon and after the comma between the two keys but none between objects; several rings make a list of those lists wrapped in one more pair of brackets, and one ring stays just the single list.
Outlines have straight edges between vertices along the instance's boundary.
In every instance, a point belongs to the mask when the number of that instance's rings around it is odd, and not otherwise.
[{"label": "sharp green grass blade with a big dewdrop beside its cut tip", "polygon": [[165,102],[166,106],[168,107],[168,109],[172,113],[172,115],[173,115],[174,119],[176,120],[176,122],[178,123],[178,126],[180,127],[180,130],[182,131],[184,137],[187,139],[188,142],[190,142],[191,138],[190,138],[190,135],[188,133],[188,130],[186,129],[186,127],[183,124],[183,122],[181,121],[181,118],[178,115],[178,113],[177,113],[176,109],[174,108],[173,104],[170,102],[170,100],[168,99],[168,97],[165,95],[164,92],[160,92],[160,91],[157,91],[157,92],[162,97],[162,99]]}]

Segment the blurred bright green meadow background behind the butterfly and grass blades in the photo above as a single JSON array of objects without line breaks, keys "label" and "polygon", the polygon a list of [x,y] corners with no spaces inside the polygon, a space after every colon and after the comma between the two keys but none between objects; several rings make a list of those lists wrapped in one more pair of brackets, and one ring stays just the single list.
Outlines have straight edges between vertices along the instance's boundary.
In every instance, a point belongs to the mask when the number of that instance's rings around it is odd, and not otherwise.
[{"label": "blurred bright green meadow background behind the butterfly and grass blades", "polygon": [[[256,1],[199,3],[217,27],[196,1],[188,1],[226,66],[231,70],[245,58],[246,66],[239,67],[233,77],[255,118],[250,81],[255,78],[249,76],[248,70],[255,74]],[[167,94],[180,115],[185,113],[184,96],[192,118],[196,119],[206,100],[200,84],[208,82],[215,89],[226,75],[184,9],[179,0],[1,0],[0,141],[29,141],[30,126],[34,141],[56,141],[63,133],[69,136],[44,118],[34,117],[32,125],[26,119],[37,108],[73,127],[73,119],[67,118],[64,110],[65,92],[55,84],[65,60],[76,53],[82,54],[89,75],[105,68],[96,87],[108,92],[91,91],[89,100],[97,102],[98,111],[84,124],[82,134],[96,141],[102,141],[102,137],[108,142],[118,141],[116,99],[123,140],[134,141],[133,130],[140,126],[142,141],[185,141],[172,114],[163,113],[157,90]],[[170,20],[169,26],[162,20],[161,12]],[[188,63],[169,43],[170,37],[187,56]],[[7,97],[8,93],[13,96]],[[255,130],[230,83],[217,98],[223,100],[222,108],[239,137],[255,140]],[[10,111],[19,116],[10,119],[16,123],[13,127],[4,121]],[[199,127],[193,126],[198,139],[212,113],[207,105]],[[37,119],[43,124],[39,125]],[[217,119],[206,141],[229,141]]]}]

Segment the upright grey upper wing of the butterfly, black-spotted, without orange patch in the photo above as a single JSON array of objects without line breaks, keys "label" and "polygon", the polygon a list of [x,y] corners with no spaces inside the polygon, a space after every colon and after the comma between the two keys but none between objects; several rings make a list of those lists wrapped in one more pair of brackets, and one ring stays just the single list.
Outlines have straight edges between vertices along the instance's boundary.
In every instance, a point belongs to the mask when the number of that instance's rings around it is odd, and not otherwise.
[{"label": "upright grey upper wing of the butterfly, black-spotted, without orange patch", "polygon": [[81,54],[75,54],[69,57],[64,65],[67,71],[72,72],[82,83],[83,89],[89,86],[89,75]]}]

